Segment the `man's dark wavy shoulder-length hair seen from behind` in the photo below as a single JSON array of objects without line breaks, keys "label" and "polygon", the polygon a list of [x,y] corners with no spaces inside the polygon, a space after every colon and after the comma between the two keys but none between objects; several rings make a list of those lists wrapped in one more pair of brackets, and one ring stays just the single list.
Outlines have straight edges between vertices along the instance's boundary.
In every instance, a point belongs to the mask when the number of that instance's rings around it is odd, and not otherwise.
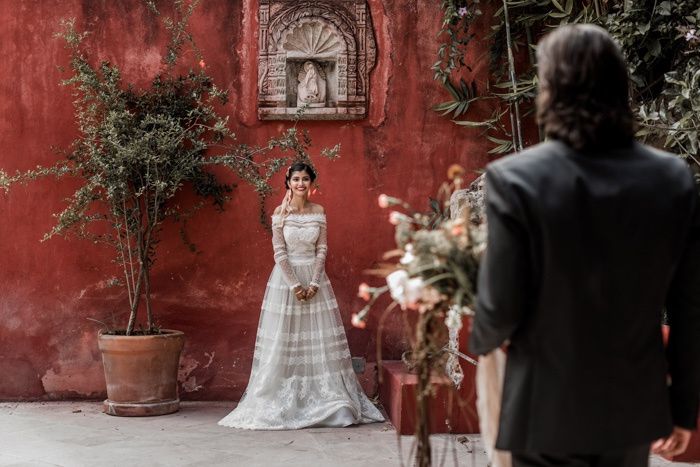
[{"label": "man's dark wavy shoulder-length hair seen from behind", "polygon": [[576,150],[628,145],[634,137],[622,52],[603,28],[563,26],[537,46],[537,120]]}]

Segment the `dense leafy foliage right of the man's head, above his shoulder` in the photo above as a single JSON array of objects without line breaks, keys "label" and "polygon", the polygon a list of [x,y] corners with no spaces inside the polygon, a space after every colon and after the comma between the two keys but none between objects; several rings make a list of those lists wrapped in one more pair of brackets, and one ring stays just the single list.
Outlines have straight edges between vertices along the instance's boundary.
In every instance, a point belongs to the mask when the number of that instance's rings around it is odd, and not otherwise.
[{"label": "dense leafy foliage right of the man's head, above his shoulder", "polygon": [[700,5],[640,3],[604,23],[630,65],[637,136],[700,166]]}]

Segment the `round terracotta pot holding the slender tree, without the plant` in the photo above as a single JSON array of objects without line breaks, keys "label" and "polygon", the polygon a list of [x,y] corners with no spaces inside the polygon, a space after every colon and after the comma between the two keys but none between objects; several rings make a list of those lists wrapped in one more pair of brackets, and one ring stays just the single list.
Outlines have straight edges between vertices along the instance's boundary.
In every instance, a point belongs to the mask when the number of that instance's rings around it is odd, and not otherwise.
[{"label": "round terracotta pot holding the slender tree, without the plant", "polygon": [[107,382],[104,411],[144,417],[177,412],[177,372],[185,335],[163,329],[153,336],[98,335]]}]

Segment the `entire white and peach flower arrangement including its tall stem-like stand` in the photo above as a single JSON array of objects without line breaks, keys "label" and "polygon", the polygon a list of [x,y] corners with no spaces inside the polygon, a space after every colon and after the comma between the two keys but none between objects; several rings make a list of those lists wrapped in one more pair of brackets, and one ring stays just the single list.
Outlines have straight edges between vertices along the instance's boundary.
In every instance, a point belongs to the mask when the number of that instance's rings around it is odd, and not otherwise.
[{"label": "entire white and peach flower arrangement including its tall stem-like stand", "polygon": [[456,333],[462,318],[473,314],[479,259],[486,245],[485,228],[470,221],[468,206],[450,212],[450,199],[460,190],[463,173],[457,165],[450,167],[449,181],[442,184],[437,199],[430,200],[428,213],[414,210],[399,198],[379,196],[379,206],[392,209],[389,222],[396,226],[397,248],[385,253],[384,259],[398,261],[369,271],[384,277],[386,285],[360,284],[358,296],[367,305],[352,316],[353,326],[364,328],[374,303],[386,292],[393,301],[385,314],[397,306],[416,312],[409,363],[418,376],[416,463],[420,466],[430,465],[430,374],[434,370],[444,372],[450,355],[458,353],[447,345],[447,331]]}]

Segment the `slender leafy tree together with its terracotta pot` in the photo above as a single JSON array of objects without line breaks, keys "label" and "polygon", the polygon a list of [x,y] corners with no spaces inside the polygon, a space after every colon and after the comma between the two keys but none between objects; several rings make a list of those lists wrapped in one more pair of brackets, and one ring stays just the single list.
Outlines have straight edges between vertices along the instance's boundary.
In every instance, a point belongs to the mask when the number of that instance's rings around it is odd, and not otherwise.
[{"label": "slender leafy tree together with its terracotta pot", "polygon": [[[145,3],[160,15],[154,2]],[[151,306],[151,269],[164,222],[171,219],[184,228],[207,201],[224,207],[233,184],[220,181],[210,171],[214,166],[227,167],[252,185],[262,207],[272,190],[270,177],[287,159],[271,153],[308,159],[310,140],[304,135],[300,141],[294,127],[264,146],[235,142],[227,118],[217,110],[226,93],[208,76],[187,30],[197,3],[173,2],[175,18],[163,21],[169,31],[163,66],[145,89],[124,83],[116,65],[93,64],[84,47],[87,33],[64,21],[58,36],[70,52],[71,75],[62,84],[73,89],[79,136],[52,166],[14,175],[0,171],[6,190],[44,176],[79,180],[45,239],[74,234],[114,248],[121,278],[112,282],[124,287],[130,313],[124,328],[102,330],[98,337],[107,381],[105,412],[112,415],[160,415],[179,408],[184,335],[160,328]],[[183,72],[179,61],[185,46],[194,51],[196,63]],[[333,156],[337,147],[324,152]],[[194,206],[174,202],[190,189],[199,199]]]}]

